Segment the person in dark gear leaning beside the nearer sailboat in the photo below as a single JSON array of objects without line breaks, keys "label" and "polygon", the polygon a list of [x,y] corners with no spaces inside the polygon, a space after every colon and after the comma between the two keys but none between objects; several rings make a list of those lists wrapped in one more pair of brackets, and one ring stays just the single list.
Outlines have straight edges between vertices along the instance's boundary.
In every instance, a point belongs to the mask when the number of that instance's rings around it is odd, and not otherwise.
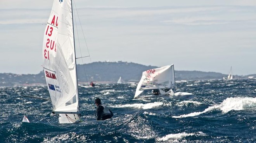
[{"label": "person in dark gear leaning beside the nearer sailboat", "polygon": [[97,106],[97,120],[110,119],[113,116],[112,111],[106,105],[101,104],[99,98],[95,99],[95,104]]}]

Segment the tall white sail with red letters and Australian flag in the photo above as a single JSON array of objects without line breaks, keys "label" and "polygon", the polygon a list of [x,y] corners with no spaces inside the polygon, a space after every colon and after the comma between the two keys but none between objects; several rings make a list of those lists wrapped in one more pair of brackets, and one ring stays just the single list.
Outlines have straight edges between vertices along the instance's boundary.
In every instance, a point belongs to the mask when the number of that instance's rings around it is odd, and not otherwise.
[{"label": "tall white sail with red letters and Australian flag", "polygon": [[80,121],[71,0],[54,0],[43,39],[43,68],[59,123]]}]

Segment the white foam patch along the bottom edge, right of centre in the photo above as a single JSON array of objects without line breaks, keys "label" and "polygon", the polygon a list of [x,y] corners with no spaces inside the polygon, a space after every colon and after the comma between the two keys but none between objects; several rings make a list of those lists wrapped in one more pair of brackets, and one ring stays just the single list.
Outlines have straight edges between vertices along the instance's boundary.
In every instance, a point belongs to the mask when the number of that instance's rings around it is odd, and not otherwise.
[{"label": "white foam patch along the bottom edge, right of centre", "polygon": [[166,135],[162,138],[157,138],[157,141],[171,141],[171,140],[178,140],[181,138],[185,138],[187,136],[206,136],[205,133],[203,132],[198,132],[198,133],[177,133],[177,134],[169,134]]}]

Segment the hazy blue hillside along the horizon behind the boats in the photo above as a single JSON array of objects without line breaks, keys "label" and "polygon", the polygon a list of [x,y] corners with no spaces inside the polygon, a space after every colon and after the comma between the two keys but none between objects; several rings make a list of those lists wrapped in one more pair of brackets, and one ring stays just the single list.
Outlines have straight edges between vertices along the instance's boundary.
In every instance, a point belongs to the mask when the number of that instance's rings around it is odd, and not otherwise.
[{"label": "hazy blue hillside along the horizon behind the boats", "polygon": [[[125,82],[139,81],[142,72],[148,69],[157,68],[156,66],[145,66],[132,62],[93,62],[90,64],[77,65],[78,82],[90,81],[108,81],[117,82],[119,77]],[[251,75],[253,76],[253,75]],[[205,79],[222,79],[227,74],[218,72],[202,71],[175,71],[176,80],[205,80]],[[244,76],[247,78],[248,76]],[[234,76],[234,78],[242,78]],[[45,84],[44,73],[38,74],[0,74],[0,86],[14,86],[24,84]]]}]

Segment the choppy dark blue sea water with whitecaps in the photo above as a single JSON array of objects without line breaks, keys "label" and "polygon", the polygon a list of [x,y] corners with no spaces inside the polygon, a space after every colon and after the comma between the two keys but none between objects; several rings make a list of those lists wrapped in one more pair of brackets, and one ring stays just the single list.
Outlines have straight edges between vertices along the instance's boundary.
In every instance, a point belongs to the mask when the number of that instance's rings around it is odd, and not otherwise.
[{"label": "choppy dark blue sea water with whitecaps", "polygon": [[[79,87],[83,123],[58,124],[47,86],[0,87],[0,142],[256,142],[256,80],[177,81],[189,100],[133,99],[136,86]],[[112,119],[95,121],[95,98]],[[21,123],[26,115],[31,123]]]}]

